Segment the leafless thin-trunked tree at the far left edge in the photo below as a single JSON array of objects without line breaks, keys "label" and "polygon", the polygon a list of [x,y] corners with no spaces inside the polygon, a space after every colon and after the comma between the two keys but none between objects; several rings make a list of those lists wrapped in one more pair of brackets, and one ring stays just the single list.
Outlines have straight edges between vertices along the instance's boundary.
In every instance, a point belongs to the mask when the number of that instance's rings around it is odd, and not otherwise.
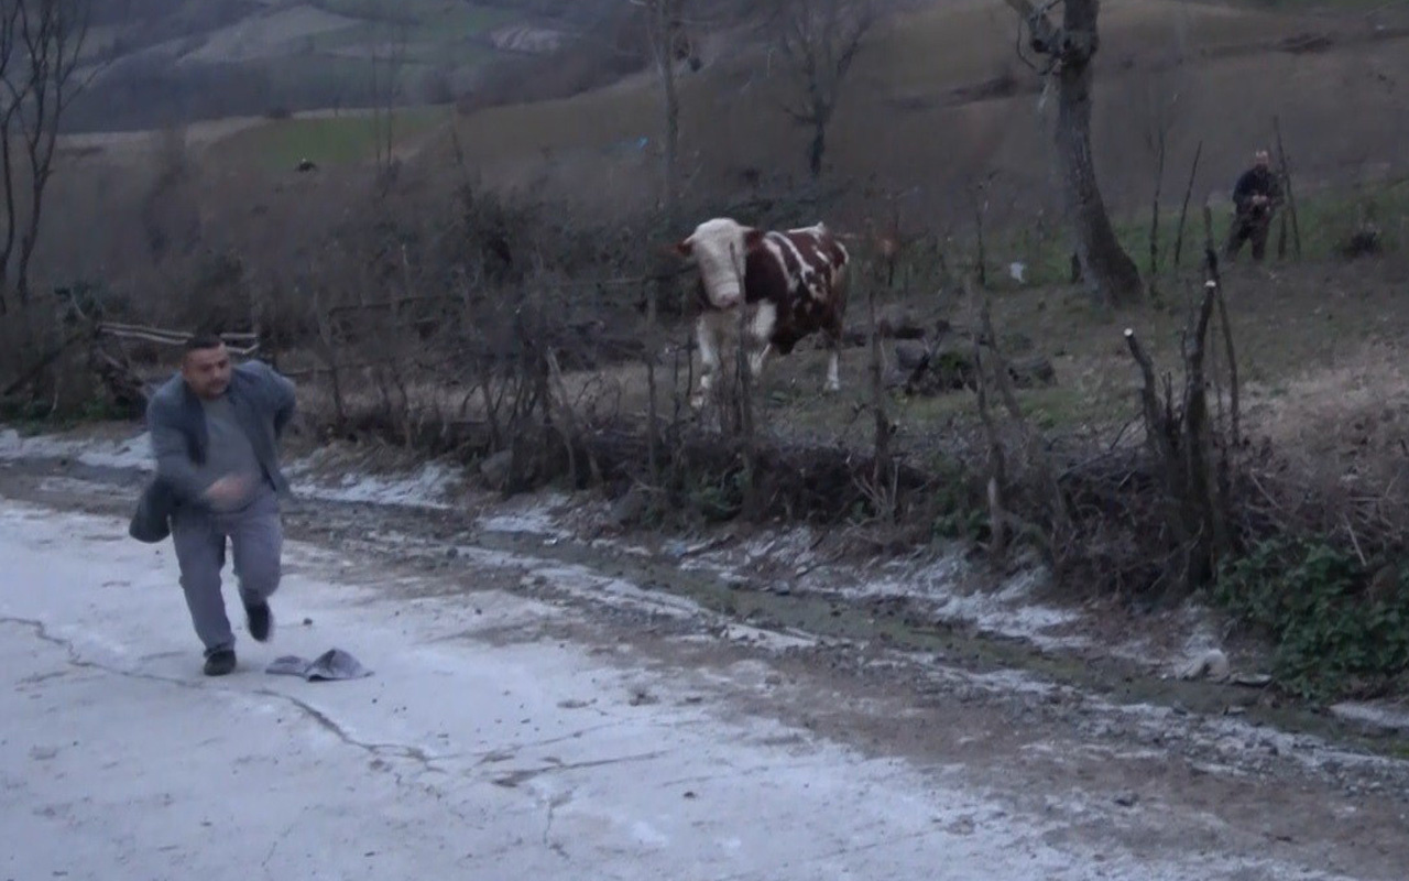
[{"label": "leafless thin-trunked tree at the far left edge", "polygon": [[0,3],[0,314],[11,297],[20,307],[30,302],[30,262],[59,123],[93,75],[80,76],[89,13],[89,0]]}]

